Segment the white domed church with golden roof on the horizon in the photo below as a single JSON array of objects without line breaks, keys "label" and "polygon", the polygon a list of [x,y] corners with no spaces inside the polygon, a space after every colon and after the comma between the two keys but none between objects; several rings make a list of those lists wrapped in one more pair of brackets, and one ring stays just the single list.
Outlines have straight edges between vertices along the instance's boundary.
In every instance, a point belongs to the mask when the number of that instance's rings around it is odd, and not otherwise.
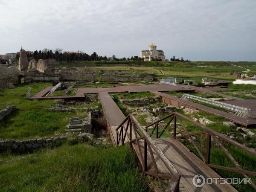
[{"label": "white domed church with golden roof on the horizon", "polygon": [[163,50],[157,50],[157,46],[154,43],[148,46],[148,50],[141,51],[140,57],[144,58],[144,61],[152,61],[153,58],[165,61],[165,55]]}]

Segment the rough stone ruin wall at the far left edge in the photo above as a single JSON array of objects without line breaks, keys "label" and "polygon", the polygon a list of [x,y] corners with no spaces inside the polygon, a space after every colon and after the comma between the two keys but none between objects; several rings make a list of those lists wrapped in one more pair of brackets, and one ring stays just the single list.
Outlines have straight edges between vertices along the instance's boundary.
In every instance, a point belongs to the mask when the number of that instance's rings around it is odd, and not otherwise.
[{"label": "rough stone ruin wall at the far left edge", "polygon": [[20,76],[24,76],[24,74],[20,73],[17,67],[5,67],[0,65],[0,86],[8,87],[10,83],[19,84]]}]

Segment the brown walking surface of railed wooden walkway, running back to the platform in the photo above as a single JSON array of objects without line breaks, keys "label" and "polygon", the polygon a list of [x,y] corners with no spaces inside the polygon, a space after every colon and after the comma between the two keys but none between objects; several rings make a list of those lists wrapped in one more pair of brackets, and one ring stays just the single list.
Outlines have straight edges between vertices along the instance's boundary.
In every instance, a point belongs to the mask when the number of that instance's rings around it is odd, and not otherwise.
[{"label": "brown walking surface of railed wooden walkway, running back to the platform", "polygon": [[[99,93],[100,102],[102,103],[102,108],[105,114],[105,117],[108,122],[108,131],[111,135],[111,139],[116,145],[116,128],[122,124],[125,119],[122,111],[113,101],[111,96],[102,92]],[[127,123],[125,124],[127,125]],[[129,127],[128,131],[129,133]],[[135,134],[132,133],[132,138],[136,138]],[[175,138],[164,138],[164,139],[154,139],[153,140],[156,146],[163,152],[163,154],[167,157],[170,163],[177,169],[180,173],[180,191],[200,191],[200,192],[235,192],[231,185],[220,185],[220,184],[205,184],[201,188],[197,188],[192,184],[192,178],[195,175],[203,175],[205,177],[221,177],[216,172],[214,172],[211,168],[209,168],[203,161],[201,161],[195,154],[189,151],[186,146],[180,143]],[[125,139],[126,143],[128,142],[128,136]],[[138,143],[137,143],[138,142]],[[144,141],[137,140],[137,142],[131,143],[132,148],[134,149],[137,157],[139,157],[140,163],[143,164],[143,160],[140,158],[140,152],[144,154]],[[139,144],[139,145],[137,145]],[[140,146],[140,149],[139,147]],[[166,166],[163,161],[161,161],[155,151],[153,151],[154,159],[156,160],[158,171],[161,173],[167,173]],[[147,162],[148,162],[148,171],[154,171],[154,166],[152,165],[150,152],[147,151]]]}]

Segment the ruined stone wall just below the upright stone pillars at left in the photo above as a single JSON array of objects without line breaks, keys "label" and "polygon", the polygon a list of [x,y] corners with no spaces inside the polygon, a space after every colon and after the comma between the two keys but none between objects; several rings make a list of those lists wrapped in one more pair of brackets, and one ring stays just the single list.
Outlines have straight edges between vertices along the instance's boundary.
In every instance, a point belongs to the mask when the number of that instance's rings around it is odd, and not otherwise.
[{"label": "ruined stone wall just below the upright stone pillars at left", "polygon": [[59,81],[60,77],[58,75],[48,75],[46,73],[41,73],[39,71],[30,71],[25,73],[25,83],[31,82],[51,82]]}]

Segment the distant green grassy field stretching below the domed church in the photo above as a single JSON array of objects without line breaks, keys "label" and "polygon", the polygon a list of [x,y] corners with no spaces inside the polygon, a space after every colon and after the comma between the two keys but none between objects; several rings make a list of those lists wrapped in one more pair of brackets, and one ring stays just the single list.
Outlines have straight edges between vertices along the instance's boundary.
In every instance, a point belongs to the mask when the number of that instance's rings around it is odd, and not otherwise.
[{"label": "distant green grassy field stretching below the domed church", "polygon": [[233,70],[248,75],[256,73],[256,62],[225,62],[225,61],[191,61],[191,62],[166,62],[166,61],[73,61],[60,62],[57,67],[96,69],[104,71],[127,71],[134,73],[151,72],[160,77],[183,77],[200,83],[201,79],[225,79],[233,81],[236,76],[230,75]]}]

